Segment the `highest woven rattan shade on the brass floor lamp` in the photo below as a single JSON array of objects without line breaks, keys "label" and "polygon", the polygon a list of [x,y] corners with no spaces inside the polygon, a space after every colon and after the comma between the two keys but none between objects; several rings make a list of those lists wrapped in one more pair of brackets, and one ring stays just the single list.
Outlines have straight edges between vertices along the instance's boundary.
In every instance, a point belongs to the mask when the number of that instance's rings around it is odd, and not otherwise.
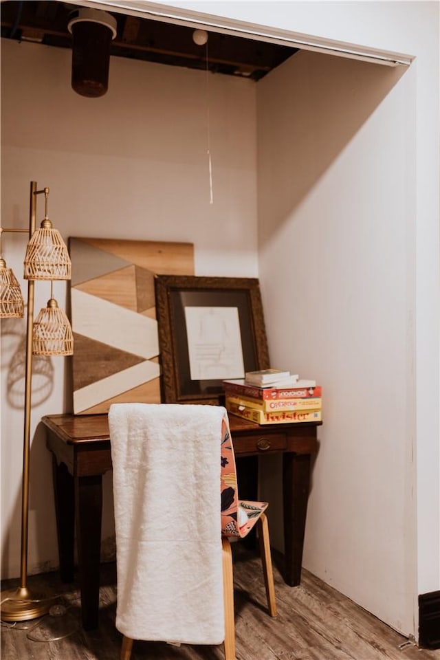
[{"label": "highest woven rattan shade on the brass floor lamp", "polygon": [[34,231],[25,254],[25,280],[69,280],[72,264],[60,232],[45,218]]}]

